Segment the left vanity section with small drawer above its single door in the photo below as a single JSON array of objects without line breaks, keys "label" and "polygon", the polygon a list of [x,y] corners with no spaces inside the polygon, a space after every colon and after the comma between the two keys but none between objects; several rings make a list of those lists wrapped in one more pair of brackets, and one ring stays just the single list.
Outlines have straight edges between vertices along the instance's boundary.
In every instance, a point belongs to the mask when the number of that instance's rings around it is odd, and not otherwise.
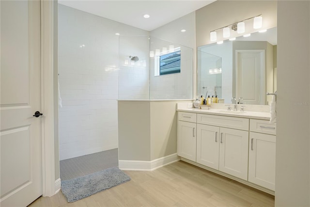
[{"label": "left vanity section with small drawer above its single door", "polygon": [[178,155],[196,162],[196,114],[178,112]]}]

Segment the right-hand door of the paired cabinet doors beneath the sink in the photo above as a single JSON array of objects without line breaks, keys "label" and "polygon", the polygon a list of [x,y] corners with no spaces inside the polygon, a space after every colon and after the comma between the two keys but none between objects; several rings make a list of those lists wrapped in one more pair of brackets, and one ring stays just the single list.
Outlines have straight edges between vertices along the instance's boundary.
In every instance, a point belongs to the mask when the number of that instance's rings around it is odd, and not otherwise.
[{"label": "right-hand door of the paired cabinet doors beneath the sink", "polygon": [[248,180],[248,131],[220,128],[219,170]]}]

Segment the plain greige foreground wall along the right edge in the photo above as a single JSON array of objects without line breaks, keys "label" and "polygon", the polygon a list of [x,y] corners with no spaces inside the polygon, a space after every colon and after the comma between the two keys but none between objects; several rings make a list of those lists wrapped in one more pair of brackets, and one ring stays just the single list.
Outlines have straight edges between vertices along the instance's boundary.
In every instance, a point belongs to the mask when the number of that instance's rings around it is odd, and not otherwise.
[{"label": "plain greige foreground wall along the right edge", "polygon": [[278,1],[276,207],[310,206],[310,1]]}]

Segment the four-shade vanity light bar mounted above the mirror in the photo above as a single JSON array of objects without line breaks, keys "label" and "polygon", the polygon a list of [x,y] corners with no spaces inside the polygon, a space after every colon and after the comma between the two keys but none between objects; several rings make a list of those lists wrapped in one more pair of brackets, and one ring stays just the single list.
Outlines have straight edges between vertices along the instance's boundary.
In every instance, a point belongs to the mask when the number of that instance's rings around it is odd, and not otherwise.
[{"label": "four-shade vanity light bar mounted above the mirror", "polygon": [[253,20],[253,28],[254,29],[260,29],[262,28],[263,26],[263,17],[262,17],[262,14],[260,15],[257,15],[257,16],[254,16],[254,17],[250,17],[250,18],[247,18],[247,19],[244,19],[242,21],[239,21],[239,22],[235,22],[233,24],[230,24],[230,25],[227,25],[225,27],[221,27],[221,28],[218,28],[216,30],[213,30],[210,32],[210,40],[212,42],[215,42],[217,41],[217,31],[218,30],[223,30],[223,37],[224,38],[229,38],[230,37],[230,30],[232,29],[233,31],[237,31],[238,34],[243,34],[245,33],[245,21],[249,20],[249,19],[254,19]]}]

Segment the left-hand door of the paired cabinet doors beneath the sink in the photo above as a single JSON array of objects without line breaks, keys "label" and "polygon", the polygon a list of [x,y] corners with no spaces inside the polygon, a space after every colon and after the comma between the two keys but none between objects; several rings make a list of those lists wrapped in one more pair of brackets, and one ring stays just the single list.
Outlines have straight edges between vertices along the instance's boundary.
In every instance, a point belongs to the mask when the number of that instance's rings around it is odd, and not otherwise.
[{"label": "left-hand door of the paired cabinet doors beneath the sink", "polygon": [[218,170],[219,127],[197,124],[197,162]]}]

